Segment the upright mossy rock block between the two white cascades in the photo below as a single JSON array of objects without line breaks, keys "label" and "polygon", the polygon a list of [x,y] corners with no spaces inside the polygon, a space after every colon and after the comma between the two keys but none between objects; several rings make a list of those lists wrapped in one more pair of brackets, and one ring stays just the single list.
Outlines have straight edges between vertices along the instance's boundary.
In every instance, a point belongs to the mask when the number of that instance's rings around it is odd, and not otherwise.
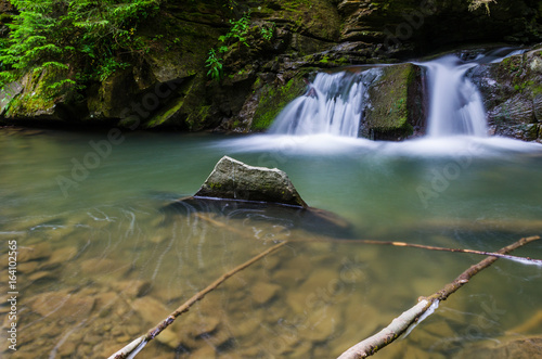
[{"label": "upright mossy rock block between the two white cascades", "polygon": [[402,140],[423,126],[420,68],[413,64],[383,68],[380,78],[369,89],[362,134],[374,140]]}]

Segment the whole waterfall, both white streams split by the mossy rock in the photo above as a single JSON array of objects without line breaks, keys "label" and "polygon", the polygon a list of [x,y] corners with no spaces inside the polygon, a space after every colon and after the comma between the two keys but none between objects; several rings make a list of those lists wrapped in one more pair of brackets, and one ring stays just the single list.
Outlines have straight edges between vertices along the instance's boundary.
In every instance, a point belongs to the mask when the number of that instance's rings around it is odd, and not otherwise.
[{"label": "whole waterfall, both white streams split by the mossy rock", "polygon": [[[479,64],[500,62],[525,50],[498,49],[474,60],[456,55],[414,63],[426,69],[427,138],[452,136],[488,137],[486,110],[480,92],[466,73]],[[328,133],[357,138],[365,108],[371,106],[367,89],[382,76],[382,67],[363,72],[320,73],[307,92],[291,102],[276,117],[272,134]]]}]

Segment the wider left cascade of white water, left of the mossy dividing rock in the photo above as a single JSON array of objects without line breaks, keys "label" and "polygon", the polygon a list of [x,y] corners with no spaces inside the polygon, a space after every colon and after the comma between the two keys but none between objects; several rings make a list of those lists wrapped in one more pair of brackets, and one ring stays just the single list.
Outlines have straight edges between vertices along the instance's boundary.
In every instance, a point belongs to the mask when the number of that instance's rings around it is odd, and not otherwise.
[{"label": "wider left cascade of white water, left of the mossy dividing rock", "polygon": [[320,73],[305,95],[291,102],[276,117],[270,133],[358,137],[369,85],[379,68],[362,73]]}]

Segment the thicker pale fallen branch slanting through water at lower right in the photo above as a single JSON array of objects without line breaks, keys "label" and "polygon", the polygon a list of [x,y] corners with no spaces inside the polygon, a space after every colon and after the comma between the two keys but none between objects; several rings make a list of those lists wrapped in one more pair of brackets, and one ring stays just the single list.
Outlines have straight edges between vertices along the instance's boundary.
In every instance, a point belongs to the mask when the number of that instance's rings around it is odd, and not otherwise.
[{"label": "thicker pale fallen branch slanting through water at lower right", "polygon": [[[507,254],[537,240],[540,240],[540,236],[525,238],[499,249],[496,253]],[[490,256],[477,265],[470,266],[470,268],[461,273],[453,282],[444,285],[444,287],[439,292],[428,297],[420,297],[418,303],[414,307],[393,319],[388,326],[378,333],[350,347],[348,350],[343,352],[338,359],[360,359],[372,356],[406,332],[412,324],[421,322],[427,315],[433,312],[439,302],[446,300],[452,293],[468,283],[470,278],[476,275],[480,270],[491,266],[499,258],[495,256]]]}]

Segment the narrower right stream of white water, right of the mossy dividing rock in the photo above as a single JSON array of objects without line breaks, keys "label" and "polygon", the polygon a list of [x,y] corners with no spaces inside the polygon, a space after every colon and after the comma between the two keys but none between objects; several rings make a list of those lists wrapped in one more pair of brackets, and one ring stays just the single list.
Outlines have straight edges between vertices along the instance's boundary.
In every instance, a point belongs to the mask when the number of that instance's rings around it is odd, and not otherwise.
[{"label": "narrower right stream of white water, right of the mossy dividing rock", "polygon": [[465,77],[477,63],[461,64],[457,56],[448,55],[421,65],[427,68],[428,77],[427,134],[486,137],[488,129],[481,94]]}]

